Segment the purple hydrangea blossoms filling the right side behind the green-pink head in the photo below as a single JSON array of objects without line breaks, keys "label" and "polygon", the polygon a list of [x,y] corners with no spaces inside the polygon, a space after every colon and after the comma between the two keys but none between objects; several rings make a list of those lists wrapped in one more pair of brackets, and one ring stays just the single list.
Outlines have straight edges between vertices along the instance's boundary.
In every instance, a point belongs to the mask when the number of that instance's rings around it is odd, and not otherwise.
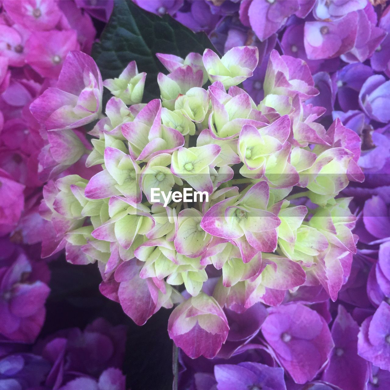
[{"label": "purple hydrangea blossoms filling the right side behind the green-pink head", "polygon": [[[353,197],[359,236],[351,274],[333,303],[310,285],[278,307],[224,309],[230,331],[214,359],[181,354],[180,389],[387,390],[390,388],[390,6],[385,1],[243,0],[137,2],[206,32],[225,53],[254,45],[260,60],[243,82],[256,103],[271,51],[305,60],[326,108],[362,141],[363,184]],[[353,149],[352,138],[342,140]],[[351,149],[351,150],[352,150]],[[330,265],[329,265],[330,266]],[[286,374],[286,375],[284,375]]]}]

